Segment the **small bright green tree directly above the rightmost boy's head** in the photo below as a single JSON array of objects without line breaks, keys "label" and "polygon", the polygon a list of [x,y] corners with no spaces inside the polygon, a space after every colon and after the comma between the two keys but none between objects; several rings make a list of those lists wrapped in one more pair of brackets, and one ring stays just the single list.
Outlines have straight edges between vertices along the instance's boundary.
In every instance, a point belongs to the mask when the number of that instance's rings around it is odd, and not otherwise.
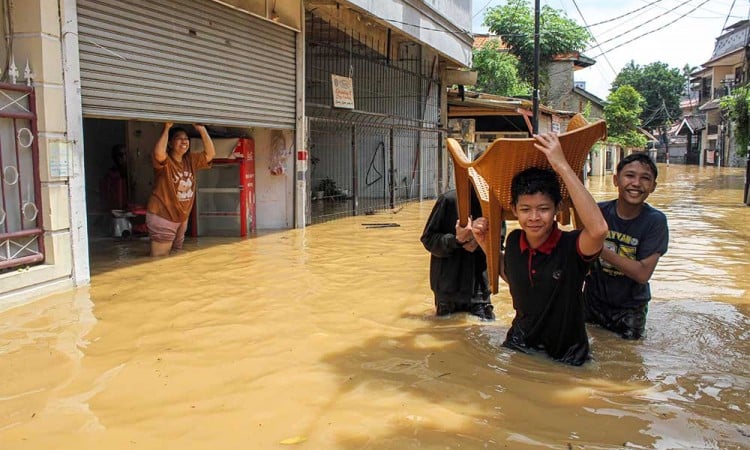
[{"label": "small bright green tree directly above the rightmost boy's head", "polygon": [[641,125],[639,116],[645,100],[632,86],[624,85],[607,97],[604,118],[607,121],[607,134],[610,142],[623,147],[646,146],[646,136],[638,131]]}]

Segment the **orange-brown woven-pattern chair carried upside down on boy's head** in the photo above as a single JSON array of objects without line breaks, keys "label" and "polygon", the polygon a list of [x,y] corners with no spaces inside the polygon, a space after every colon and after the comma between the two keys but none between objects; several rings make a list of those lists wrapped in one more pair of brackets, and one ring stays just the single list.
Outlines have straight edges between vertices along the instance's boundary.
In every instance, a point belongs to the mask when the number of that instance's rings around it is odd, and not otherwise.
[{"label": "orange-brown woven-pattern chair carried upside down on boy's head", "polygon": [[[567,130],[560,134],[560,145],[570,167],[583,178],[583,165],[591,147],[596,141],[607,136],[607,124],[603,120],[588,123],[576,114],[568,123]],[[496,294],[500,273],[500,229],[502,220],[514,220],[511,210],[510,184],[513,177],[529,168],[551,168],[547,157],[534,147],[533,138],[497,139],[475,161],[470,161],[458,141],[447,139],[448,151],[453,158],[456,175],[456,197],[458,217],[461,226],[466,226],[470,213],[469,182],[479,197],[482,215],[490,224],[487,244],[487,273],[490,288]],[[558,221],[563,225],[571,223],[573,204],[565,185],[562,183],[562,208]],[[575,211],[572,212],[575,219]]]}]

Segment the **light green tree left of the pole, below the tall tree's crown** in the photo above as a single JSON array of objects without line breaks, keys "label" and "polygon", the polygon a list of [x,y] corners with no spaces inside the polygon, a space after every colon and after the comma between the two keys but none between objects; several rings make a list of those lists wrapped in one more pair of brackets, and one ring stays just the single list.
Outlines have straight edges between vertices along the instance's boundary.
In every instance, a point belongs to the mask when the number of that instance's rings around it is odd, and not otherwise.
[{"label": "light green tree left of the pole, below the tall tree's crown", "polygon": [[518,58],[500,48],[500,40],[489,40],[474,49],[472,69],[480,92],[508,97],[528,96],[531,86],[518,77]]}]

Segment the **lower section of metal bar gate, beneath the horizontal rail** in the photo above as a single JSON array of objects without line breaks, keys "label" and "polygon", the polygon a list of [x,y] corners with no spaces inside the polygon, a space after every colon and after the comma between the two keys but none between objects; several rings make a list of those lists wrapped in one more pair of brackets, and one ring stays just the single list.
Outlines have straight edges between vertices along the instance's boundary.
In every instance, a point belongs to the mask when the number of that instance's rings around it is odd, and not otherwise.
[{"label": "lower section of metal bar gate, beneath the horizontal rail", "polygon": [[311,117],[308,133],[312,223],[437,195],[438,130]]}]

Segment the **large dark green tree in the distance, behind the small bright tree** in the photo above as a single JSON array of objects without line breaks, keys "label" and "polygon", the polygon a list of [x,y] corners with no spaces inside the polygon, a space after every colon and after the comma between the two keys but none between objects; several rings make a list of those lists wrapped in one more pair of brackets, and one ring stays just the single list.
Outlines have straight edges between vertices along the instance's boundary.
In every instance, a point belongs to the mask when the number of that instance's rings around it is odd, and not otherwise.
[{"label": "large dark green tree in the distance, behind the small bright tree", "polygon": [[646,101],[641,112],[644,127],[669,126],[682,116],[680,96],[685,91],[685,78],[680,69],[662,62],[639,66],[630,61],[612,82],[612,91],[625,85],[635,88]]}]

